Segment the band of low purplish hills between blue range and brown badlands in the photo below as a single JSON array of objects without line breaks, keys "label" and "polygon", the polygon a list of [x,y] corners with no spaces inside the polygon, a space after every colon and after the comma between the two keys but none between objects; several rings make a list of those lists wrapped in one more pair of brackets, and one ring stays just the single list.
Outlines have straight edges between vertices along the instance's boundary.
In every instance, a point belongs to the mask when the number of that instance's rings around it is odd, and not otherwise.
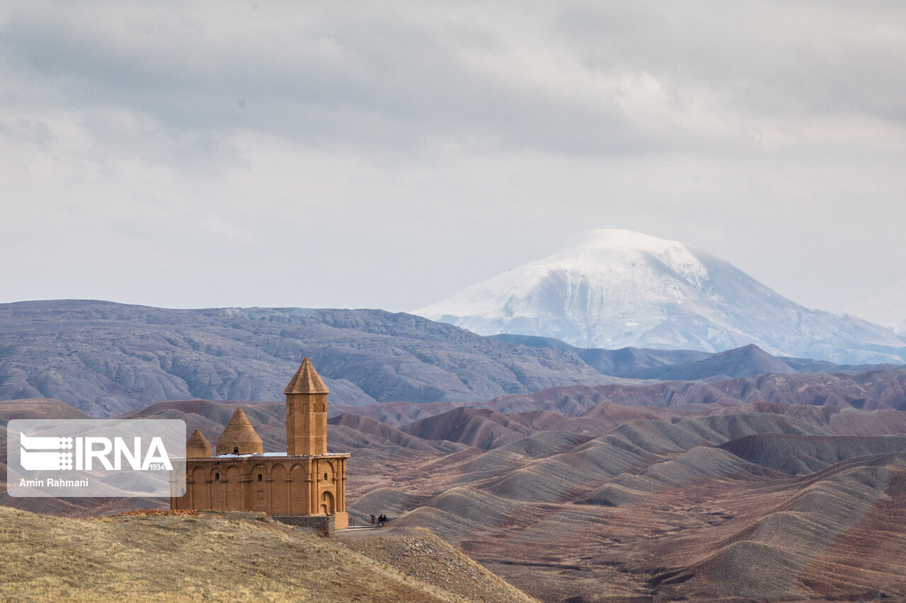
[{"label": "band of low purplish hills between blue range and brown badlands", "polygon": [[[535,429],[558,429],[565,416],[566,419],[583,417],[592,424],[591,431],[596,431],[604,425],[595,423],[592,420],[595,416],[604,418],[613,427],[630,418],[755,410],[810,417],[807,420],[817,421],[820,425],[830,420],[835,423],[834,433],[859,435],[853,429],[863,428],[862,435],[868,436],[902,432],[902,415],[890,411],[902,406],[900,397],[906,401],[904,379],[906,370],[883,369],[833,375],[761,375],[711,384],[678,381],[638,386],[559,386],[534,394],[496,397],[485,402],[392,402],[362,407],[337,405],[332,407],[332,412],[370,416],[392,426],[405,426],[458,407],[490,408]],[[819,410],[815,412],[815,408]],[[847,426],[847,417],[850,416],[846,412],[848,408],[880,409],[880,412],[870,416],[853,415],[860,418],[855,425]],[[615,414],[605,417],[608,413]],[[889,426],[890,421],[893,421],[892,426]]]}]

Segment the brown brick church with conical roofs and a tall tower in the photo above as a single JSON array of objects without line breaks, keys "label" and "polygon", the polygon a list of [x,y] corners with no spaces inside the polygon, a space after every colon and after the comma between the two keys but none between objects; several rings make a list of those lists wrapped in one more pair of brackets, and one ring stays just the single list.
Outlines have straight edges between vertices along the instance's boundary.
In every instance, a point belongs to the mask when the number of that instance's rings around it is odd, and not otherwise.
[{"label": "brown brick church with conical roofs and a tall tower", "polygon": [[[261,438],[241,408],[217,439],[217,448],[198,429],[186,443],[186,494],[170,499],[172,509],[263,511],[297,525],[342,530],[346,513],[346,459],[327,452],[327,394],[304,359],[286,395],[286,452],[265,453]],[[319,520],[320,518],[320,520]],[[329,522],[323,520],[329,519]]]}]

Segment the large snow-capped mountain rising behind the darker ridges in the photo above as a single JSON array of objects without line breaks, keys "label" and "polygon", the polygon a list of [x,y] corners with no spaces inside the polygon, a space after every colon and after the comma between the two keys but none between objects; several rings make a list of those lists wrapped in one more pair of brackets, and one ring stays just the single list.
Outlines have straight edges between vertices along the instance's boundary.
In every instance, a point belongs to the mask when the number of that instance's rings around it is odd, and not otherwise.
[{"label": "large snow-capped mountain rising behind the darker ridges", "polygon": [[541,335],[583,348],[755,343],[838,363],[906,360],[906,340],[893,330],[808,310],[713,255],[627,230],[582,233],[553,255],[413,313],[482,335]]}]

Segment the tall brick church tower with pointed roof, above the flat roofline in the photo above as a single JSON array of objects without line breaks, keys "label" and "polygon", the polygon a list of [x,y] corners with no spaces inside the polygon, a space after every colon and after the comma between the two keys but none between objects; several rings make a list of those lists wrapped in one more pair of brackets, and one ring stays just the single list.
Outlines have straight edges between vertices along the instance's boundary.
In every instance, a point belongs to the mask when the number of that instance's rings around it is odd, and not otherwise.
[{"label": "tall brick church tower with pointed roof, above the flat roofline", "polygon": [[284,389],[286,395],[286,454],[327,454],[327,394],[330,391],[303,359]]}]

